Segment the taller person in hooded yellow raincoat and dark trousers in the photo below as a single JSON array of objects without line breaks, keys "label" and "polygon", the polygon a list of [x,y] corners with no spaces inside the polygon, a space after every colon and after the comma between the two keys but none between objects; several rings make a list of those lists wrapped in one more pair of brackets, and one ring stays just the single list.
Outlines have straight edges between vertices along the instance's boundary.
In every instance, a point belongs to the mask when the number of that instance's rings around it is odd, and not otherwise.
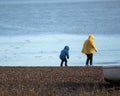
[{"label": "taller person in hooded yellow raincoat and dark trousers", "polygon": [[87,60],[86,60],[86,65],[88,66],[88,63],[90,62],[90,65],[92,65],[93,61],[93,53],[94,51],[98,51],[98,49],[95,46],[94,43],[94,35],[89,35],[88,39],[84,42],[83,48],[82,48],[82,53],[86,54]]}]

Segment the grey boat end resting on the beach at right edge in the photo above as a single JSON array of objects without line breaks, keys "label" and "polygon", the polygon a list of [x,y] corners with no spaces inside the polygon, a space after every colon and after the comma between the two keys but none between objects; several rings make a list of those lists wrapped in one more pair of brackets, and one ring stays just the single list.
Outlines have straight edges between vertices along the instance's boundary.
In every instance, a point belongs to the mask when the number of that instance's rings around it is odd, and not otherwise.
[{"label": "grey boat end resting on the beach at right edge", "polygon": [[104,66],[103,76],[107,82],[120,84],[120,66]]}]

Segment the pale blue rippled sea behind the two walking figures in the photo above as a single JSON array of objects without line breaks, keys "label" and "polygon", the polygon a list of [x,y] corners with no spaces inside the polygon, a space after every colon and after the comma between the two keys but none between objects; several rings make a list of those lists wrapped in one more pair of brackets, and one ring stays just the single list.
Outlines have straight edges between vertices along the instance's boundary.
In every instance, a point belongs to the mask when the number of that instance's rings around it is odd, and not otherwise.
[{"label": "pale blue rippled sea behind the two walking figures", "polygon": [[0,3],[0,66],[85,66],[84,41],[95,36],[93,66],[120,65],[120,1]]}]

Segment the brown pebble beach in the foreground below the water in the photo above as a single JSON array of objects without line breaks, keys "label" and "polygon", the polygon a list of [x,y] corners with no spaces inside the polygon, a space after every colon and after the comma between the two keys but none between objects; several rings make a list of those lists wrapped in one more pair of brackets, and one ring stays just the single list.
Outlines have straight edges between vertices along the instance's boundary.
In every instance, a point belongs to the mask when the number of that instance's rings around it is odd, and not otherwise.
[{"label": "brown pebble beach in the foreground below the water", "polygon": [[[95,90],[116,90],[104,81],[102,67],[99,66],[0,67],[0,96],[18,96],[18,93],[19,96],[28,96],[23,94],[30,92],[36,95],[29,96],[81,96],[81,91]],[[119,89],[116,91],[120,93]]]}]

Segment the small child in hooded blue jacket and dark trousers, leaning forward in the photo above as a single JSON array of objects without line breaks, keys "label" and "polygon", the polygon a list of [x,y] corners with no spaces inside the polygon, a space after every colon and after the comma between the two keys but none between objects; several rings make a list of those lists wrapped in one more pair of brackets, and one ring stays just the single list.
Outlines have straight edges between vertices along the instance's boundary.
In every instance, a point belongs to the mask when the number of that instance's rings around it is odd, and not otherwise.
[{"label": "small child in hooded blue jacket and dark trousers, leaning forward", "polygon": [[61,59],[61,64],[60,66],[63,66],[63,63],[65,62],[65,66],[67,66],[67,59],[69,59],[69,47],[65,46],[64,49],[60,53],[60,59]]}]

